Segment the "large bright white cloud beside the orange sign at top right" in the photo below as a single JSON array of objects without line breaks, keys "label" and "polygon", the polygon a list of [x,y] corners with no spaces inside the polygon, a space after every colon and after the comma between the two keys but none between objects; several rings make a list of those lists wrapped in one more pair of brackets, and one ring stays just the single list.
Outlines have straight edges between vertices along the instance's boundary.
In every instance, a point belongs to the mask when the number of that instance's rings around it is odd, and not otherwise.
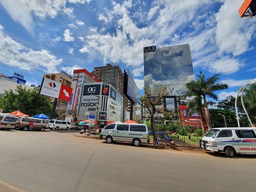
[{"label": "large bright white cloud beside the orange sign at top right", "polygon": [[[216,14],[216,44],[220,53],[240,55],[250,49],[249,42],[255,32],[255,23],[241,19],[238,9],[241,0],[225,0]],[[232,6],[230,6],[232,4]]]}]

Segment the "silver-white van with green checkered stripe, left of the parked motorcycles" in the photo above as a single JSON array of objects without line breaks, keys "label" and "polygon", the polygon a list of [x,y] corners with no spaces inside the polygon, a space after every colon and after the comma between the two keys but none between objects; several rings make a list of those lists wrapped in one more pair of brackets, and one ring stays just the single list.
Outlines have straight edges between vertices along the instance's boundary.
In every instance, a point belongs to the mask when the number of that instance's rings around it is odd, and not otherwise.
[{"label": "silver-white van with green checkered stripe, left of the parked motorcycles", "polygon": [[145,124],[110,123],[103,128],[100,138],[107,143],[113,141],[131,142],[139,147],[140,143],[149,143],[148,127]]}]

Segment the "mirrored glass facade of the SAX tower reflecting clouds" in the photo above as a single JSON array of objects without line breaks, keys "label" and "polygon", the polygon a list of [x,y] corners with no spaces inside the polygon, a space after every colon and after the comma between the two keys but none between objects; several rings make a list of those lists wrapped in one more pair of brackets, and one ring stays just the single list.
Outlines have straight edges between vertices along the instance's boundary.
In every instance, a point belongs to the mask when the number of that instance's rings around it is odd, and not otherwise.
[{"label": "mirrored glass facade of the SAX tower reflecting clouds", "polygon": [[[156,90],[165,84],[169,95],[182,95],[185,84],[195,80],[189,44],[148,50],[144,48],[145,87]],[[171,107],[172,101],[169,102]]]}]

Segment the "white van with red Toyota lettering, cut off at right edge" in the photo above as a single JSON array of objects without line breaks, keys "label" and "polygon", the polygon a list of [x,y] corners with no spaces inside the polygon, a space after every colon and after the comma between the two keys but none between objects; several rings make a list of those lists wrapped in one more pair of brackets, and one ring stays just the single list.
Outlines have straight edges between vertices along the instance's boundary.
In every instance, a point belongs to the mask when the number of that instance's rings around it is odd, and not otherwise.
[{"label": "white van with red Toyota lettering, cut off at right edge", "polygon": [[256,128],[213,128],[200,140],[200,147],[227,157],[236,154],[256,154]]}]

